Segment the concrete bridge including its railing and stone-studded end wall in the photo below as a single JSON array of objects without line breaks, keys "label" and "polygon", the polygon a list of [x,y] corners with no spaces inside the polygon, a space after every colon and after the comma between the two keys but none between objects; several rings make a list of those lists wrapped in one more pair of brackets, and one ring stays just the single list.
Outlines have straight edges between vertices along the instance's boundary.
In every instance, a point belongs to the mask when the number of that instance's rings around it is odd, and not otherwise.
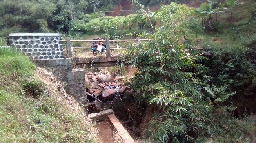
[{"label": "concrete bridge including its railing and stone-studded end wall", "polygon": [[[10,45],[17,48],[23,55],[27,55],[31,60],[56,60],[70,59],[73,65],[78,68],[98,68],[114,66],[118,62],[118,54],[112,55],[112,52],[118,52],[120,50],[126,50],[118,46],[111,46],[111,42],[135,42],[140,44],[141,41],[149,41],[149,39],[126,39],[126,40],[110,40],[106,37],[106,40],[71,40],[70,37],[66,37],[65,40],[59,34],[54,33],[18,33],[9,35]],[[62,43],[65,42],[67,46],[67,54],[64,55]],[[106,55],[94,56],[91,51],[91,46],[87,47],[73,47],[71,42],[105,42],[106,43]],[[80,48],[89,48],[90,52],[79,52]],[[201,53],[209,55],[202,49],[198,49]],[[88,50],[87,50],[88,51]],[[83,56],[79,56],[83,54]],[[87,54],[87,55],[86,55]],[[41,63],[41,62],[39,62]]]}]

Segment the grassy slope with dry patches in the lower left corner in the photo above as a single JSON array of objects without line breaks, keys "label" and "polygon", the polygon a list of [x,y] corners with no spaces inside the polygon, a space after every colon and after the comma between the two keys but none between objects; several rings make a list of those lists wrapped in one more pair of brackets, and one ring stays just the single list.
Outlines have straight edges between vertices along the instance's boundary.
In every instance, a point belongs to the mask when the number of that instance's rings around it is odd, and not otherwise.
[{"label": "grassy slope with dry patches in the lower left corner", "polygon": [[0,142],[98,143],[82,108],[37,79],[35,69],[27,56],[0,48]]}]

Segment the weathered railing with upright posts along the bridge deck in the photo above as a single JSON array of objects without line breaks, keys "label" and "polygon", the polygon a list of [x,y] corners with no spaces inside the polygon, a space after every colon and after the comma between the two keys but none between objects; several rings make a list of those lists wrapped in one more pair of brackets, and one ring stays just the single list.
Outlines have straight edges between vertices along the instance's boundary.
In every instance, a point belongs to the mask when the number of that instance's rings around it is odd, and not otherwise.
[{"label": "weathered railing with upright posts along the bridge deck", "polygon": [[[136,44],[140,44],[141,41],[149,41],[149,39],[140,39],[140,37],[136,37],[136,39],[117,39],[117,40],[110,40],[109,37],[106,37],[106,40],[71,40],[70,37],[66,37],[66,40],[62,40],[62,42],[66,42],[67,44],[67,54],[69,57],[73,57],[73,52],[76,54],[78,50],[74,48],[91,48],[91,46],[84,46],[84,47],[73,47],[71,46],[71,42],[106,42],[106,56],[110,57],[110,50],[123,50],[128,48],[122,48],[120,46],[110,46],[110,42],[129,42],[134,41]],[[114,48],[116,47],[116,48]],[[92,53],[92,52],[85,52],[85,53]]]}]

